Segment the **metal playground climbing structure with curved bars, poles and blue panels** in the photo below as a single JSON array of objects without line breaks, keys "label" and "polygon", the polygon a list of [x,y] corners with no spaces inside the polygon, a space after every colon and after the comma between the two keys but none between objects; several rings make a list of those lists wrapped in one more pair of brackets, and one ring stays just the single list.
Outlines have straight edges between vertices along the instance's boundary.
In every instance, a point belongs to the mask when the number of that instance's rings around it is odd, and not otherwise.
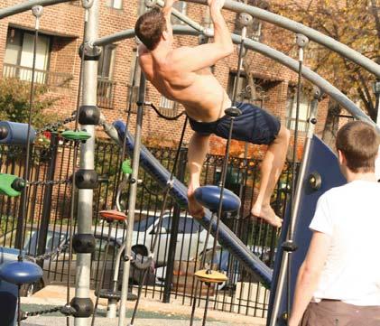
[{"label": "metal playground climbing structure with curved bars, poles and blue panels", "polygon": [[[5,16],[10,14],[18,14],[25,10],[32,9],[33,14],[36,17],[36,37],[38,37],[38,20],[42,14],[42,7],[36,6],[54,5],[59,4],[61,2],[65,1],[30,1],[22,5],[16,5],[14,7],[0,10],[0,18],[4,18]],[[206,4],[205,1],[201,0],[191,0],[189,2],[197,3],[199,5]],[[160,1],[146,2],[147,6],[152,6],[155,4],[162,5]],[[140,161],[142,166],[149,172],[151,172],[153,174],[153,177],[157,179],[158,182],[162,185],[162,188],[165,189],[166,196],[171,194],[176,200],[180,202],[181,207],[186,207],[187,205],[186,188],[181,184],[181,182],[176,181],[175,178],[172,177],[172,172],[167,172],[162,166],[160,166],[159,163],[154,161],[153,156],[149,154],[149,152],[147,152],[146,149],[142,148],[141,146],[141,127],[143,124],[143,110],[144,105],[146,104],[144,100],[144,77],[141,78],[141,84],[139,88],[140,94],[138,98],[137,122],[134,139],[132,135],[130,135],[127,132],[125,126],[123,126],[120,123],[109,125],[106,121],[104,121],[101,114],[99,113],[96,107],[97,59],[99,55],[98,47],[107,43],[134,37],[134,31],[128,30],[99,39],[97,37],[97,22],[99,19],[97,10],[98,1],[83,1],[82,5],[86,9],[86,23],[85,39],[83,42],[81,52],[83,77],[81,79],[82,102],[80,103],[80,106],[78,106],[79,111],[77,113],[77,122],[79,122],[82,126],[80,132],[76,128],[74,131],[68,132],[66,135],[63,135],[66,136],[67,139],[74,140],[78,142],[78,144],[80,143],[80,166],[79,170],[77,170],[74,173],[73,177],[73,180],[75,180],[75,182],[73,182],[73,185],[75,184],[76,187],[79,189],[78,233],[72,241],[72,246],[77,252],[76,293],[75,297],[70,302],[68,301],[67,306],[65,306],[66,310],[64,312],[67,314],[74,315],[75,325],[78,326],[87,325],[88,318],[91,317],[93,314],[93,303],[89,299],[89,266],[90,254],[94,249],[94,239],[93,235],[91,234],[91,223],[93,216],[92,198],[93,190],[97,187],[97,173],[94,171],[94,142],[95,126],[103,125],[105,127],[105,130],[107,131],[107,134],[123,146],[123,151],[126,147],[126,150],[129,151],[133,157],[132,171],[129,171],[129,169],[126,167],[126,164],[124,170],[125,180],[126,182],[130,182],[130,188],[128,200],[129,206],[127,216],[127,235],[124,253],[123,287],[120,296],[117,297],[117,299],[120,299],[119,326],[121,326],[125,324],[125,300],[128,289],[129,267],[131,261],[134,262],[134,264],[139,264],[138,260],[135,260],[131,253],[131,238],[133,231],[132,228],[134,224],[134,206],[138,179],[137,172],[139,169]],[[341,56],[344,56],[349,60],[354,61],[358,65],[373,73],[376,76],[376,78],[380,78],[380,66],[375,64],[375,62],[368,60],[366,57],[362,56],[356,51],[349,49],[345,45],[336,42],[330,39],[329,37],[322,35],[321,33],[313,31],[310,28],[301,25],[300,23],[294,23],[276,14],[271,14],[269,12],[265,12],[262,9],[248,5],[243,5],[234,1],[226,1],[225,8],[227,8],[228,10],[232,10],[236,13],[255,16],[256,18],[264,20],[268,23],[275,23],[283,28],[291,30],[294,33],[301,33],[298,36],[297,42],[300,51],[299,61],[292,60],[292,58],[289,58],[283,53],[275,51],[262,43],[246,39],[244,33],[241,36],[232,35],[232,37],[234,42],[240,45],[244,45],[246,49],[258,51],[264,54],[265,56],[272,58],[275,61],[279,61],[291,70],[298,72],[299,86],[301,85],[301,78],[305,78],[309,79],[310,82],[312,82],[319,88],[315,91],[313,110],[310,115],[307,143],[305,145],[305,150],[301,163],[301,172],[299,174],[297,186],[294,185],[294,187],[292,187],[292,191],[294,192],[294,194],[292,202],[288,206],[287,220],[283,228],[283,246],[279,248],[280,255],[277,255],[276,257],[276,265],[274,267],[273,276],[272,271],[266,265],[264,265],[258,258],[256,258],[255,255],[252,252],[250,252],[250,250],[247,249],[226,226],[220,223],[219,218],[221,210],[226,209],[222,207],[225,201],[217,200],[217,206],[215,202],[213,204],[210,204],[210,199],[208,199],[207,196],[206,199],[203,201],[205,206],[218,213],[218,219],[214,220],[212,218],[212,215],[208,212],[204,219],[201,219],[200,223],[205,228],[208,228],[211,233],[213,233],[214,235],[218,235],[216,236],[216,238],[219,238],[220,243],[224,247],[227,247],[231,254],[233,256],[236,256],[236,259],[238,259],[240,263],[246,265],[246,267],[249,270],[251,270],[252,273],[258,275],[260,279],[264,282],[264,284],[267,284],[268,286],[271,284],[271,306],[268,317],[268,325],[274,326],[276,324],[283,324],[284,322],[286,322],[286,312],[289,312],[289,304],[291,301],[291,294],[289,293],[289,289],[291,289],[294,285],[294,274],[297,270],[297,266],[299,266],[301,259],[303,258],[305,253],[304,250],[296,251],[296,247],[305,249],[309,241],[307,234],[305,236],[305,229],[308,225],[308,220],[310,220],[311,217],[309,216],[306,219],[303,218],[301,222],[299,217],[301,216],[301,214],[304,215],[304,212],[306,210],[311,212],[315,208],[316,200],[318,200],[318,197],[323,191],[326,191],[332,186],[335,186],[343,182],[338,173],[334,173],[332,170],[329,171],[331,173],[326,174],[324,164],[326,164],[327,160],[330,160],[331,164],[329,164],[329,166],[333,166],[335,163],[334,156],[326,148],[324,144],[320,143],[318,138],[313,136],[313,126],[316,123],[315,116],[318,107],[318,101],[320,99],[320,92],[324,92],[327,95],[329,95],[330,98],[334,98],[339,105],[345,107],[348,110],[348,112],[350,112],[352,116],[355,116],[357,119],[361,119],[371,124],[374,124],[369,119],[369,117],[367,117],[345,95],[339,92],[337,88],[331,86],[329,82],[327,82],[325,79],[322,79],[315,72],[302,66],[303,51],[305,51],[305,46],[308,42],[307,38],[309,38],[311,41],[319,42],[320,44],[326,46],[332,51],[337,51]],[[199,24],[190,21],[189,18],[183,16],[175,10],[173,11],[173,14],[185,23],[190,24],[190,27],[175,27],[174,33],[204,35],[206,37],[212,37],[212,30],[204,29],[202,26],[199,26]],[[249,17],[248,19],[246,19],[246,21],[249,21]],[[240,49],[243,49],[243,46],[241,46]],[[242,54],[240,53],[240,58],[241,55]],[[238,67],[240,67],[240,62]],[[240,71],[240,69],[238,69],[237,71]],[[379,93],[376,93],[376,96],[378,97]],[[2,125],[0,127],[2,142],[5,142],[7,144],[20,144],[22,142],[23,144],[30,144],[32,142],[34,134],[33,132],[31,132],[32,126],[30,124],[26,126],[16,126],[12,123],[5,123],[5,125]],[[379,130],[378,127],[377,130]],[[123,156],[124,154],[122,154],[122,158]],[[29,157],[29,154],[27,154],[26,157]],[[323,160],[319,161],[319,157],[322,157]],[[27,166],[25,172],[26,175],[23,177],[23,179],[10,175],[2,175],[2,193],[13,196],[20,195],[24,191],[25,186],[28,182]],[[129,177],[126,177],[127,174],[129,174]],[[220,189],[220,197],[217,197],[224,199],[223,184],[220,187]],[[212,190],[213,188],[204,188],[206,195],[209,194]],[[199,194],[199,196],[201,195],[202,194]],[[227,192],[226,199],[232,198],[232,195],[230,195]],[[236,210],[236,207],[238,206],[238,204],[236,204],[237,201],[232,199],[231,202],[233,203],[233,206],[235,205],[234,210]],[[107,216],[108,218],[110,217],[109,214]],[[113,218],[115,219],[117,219],[118,217],[120,216],[117,214],[113,216]],[[125,219],[124,216],[122,218]],[[140,267],[142,269],[146,269],[146,267],[152,264],[152,261],[153,256],[149,256],[148,260],[143,261]],[[0,278],[2,278],[2,280],[7,281],[8,283],[17,284],[19,286],[23,283],[34,282],[36,279],[41,277],[41,271],[37,268],[37,266],[23,261],[22,255],[20,255],[18,261],[11,262],[9,264],[9,266],[11,266],[12,268],[6,268],[6,265],[8,265],[6,264],[2,266],[0,272]],[[290,277],[292,279],[292,282],[290,284],[286,284],[285,274],[288,270],[289,265],[292,266],[292,274]],[[28,277],[26,277],[25,279],[21,276],[21,272],[20,274],[15,273],[14,266],[17,266],[17,268],[20,267],[22,272],[26,273]],[[208,279],[207,277],[203,277],[201,279],[203,281],[206,281],[206,283],[211,283],[212,280],[215,280],[212,278]],[[220,280],[216,279],[216,281]],[[286,287],[288,287],[288,289],[286,289]],[[14,289],[12,291],[12,293],[15,293]],[[131,321],[131,324],[134,324],[134,318],[133,321]]]}]

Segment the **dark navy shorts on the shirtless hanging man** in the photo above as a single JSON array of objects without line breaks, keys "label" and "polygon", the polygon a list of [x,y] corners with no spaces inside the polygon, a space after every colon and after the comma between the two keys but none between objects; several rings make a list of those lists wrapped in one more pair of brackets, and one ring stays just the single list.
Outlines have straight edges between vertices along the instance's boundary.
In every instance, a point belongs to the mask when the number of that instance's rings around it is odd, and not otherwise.
[{"label": "dark navy shorts on the shirtless hanging man", "polygon": [[[280,131],[280,121],[260,107],[236,103],[242,114],[234,120],[232,139],[253,144],[271,144]],[[191,129],[199,135],[218,135],[228,138],[230,118],[222,116],[213,122],[198,122],[189,117]]]}]

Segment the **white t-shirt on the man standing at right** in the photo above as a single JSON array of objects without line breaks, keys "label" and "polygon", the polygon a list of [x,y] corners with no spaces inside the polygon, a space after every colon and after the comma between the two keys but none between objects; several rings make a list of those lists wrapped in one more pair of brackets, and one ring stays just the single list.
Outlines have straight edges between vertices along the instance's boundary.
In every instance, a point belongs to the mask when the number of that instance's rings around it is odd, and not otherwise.
[{"label": "white t-shirt on the man standing at right", "polygon": [[313,301],[380,306],[380,183],[355,181],[326,191],[310,228],[331,236]]}]

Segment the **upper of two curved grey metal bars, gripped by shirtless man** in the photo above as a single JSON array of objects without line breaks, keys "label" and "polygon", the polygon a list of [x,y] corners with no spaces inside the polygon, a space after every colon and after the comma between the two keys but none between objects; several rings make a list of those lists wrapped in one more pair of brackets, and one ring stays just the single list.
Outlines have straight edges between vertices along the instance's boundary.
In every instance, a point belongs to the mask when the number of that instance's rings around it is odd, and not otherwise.
[{"label": "upper of two curved grey metal bars, gripped by shirtless man", "polygon": [[[189,3],[199,4],[199,5],[207,5],[206,0],[184,0],[184,1],[189,2]],[[283,27],[284,29],[287,29],[294,33],[301,33],[309,37],[310,40],[320,43],[321,45],[325,46],[329,50],[335,51],[342,57],[347,58],[350,61],[357,63],[359,66],[375,74],[377,78],[380,78],[380,66],[376,64],[374,61],[366,58],[363,54],[351,49],[347,45],[342,44],[323,33],[313,30],[310,27],[307,27],[301,23],[294,22],[291,19],[283,17],[279,14],[273,14],[264,9],[261,9],[252,5],[245,5],[237,1],[226,0],[224,8],[236,13],[251,14],[255,18],[258,18],[264,22],[273,23],[274,25]]]}]

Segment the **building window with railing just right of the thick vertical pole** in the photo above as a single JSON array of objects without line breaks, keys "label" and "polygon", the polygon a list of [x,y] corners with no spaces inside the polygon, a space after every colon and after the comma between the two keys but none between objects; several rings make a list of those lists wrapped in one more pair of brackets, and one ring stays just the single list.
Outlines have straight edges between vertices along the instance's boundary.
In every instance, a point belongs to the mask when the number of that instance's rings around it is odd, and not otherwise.
[{"label": "building window with railing just right of the thick vertical pole", "polygon": [[116,46],[103,47],[97,64],[97,106],[112,108],[116,83],[112,80],[115,66]]}]

